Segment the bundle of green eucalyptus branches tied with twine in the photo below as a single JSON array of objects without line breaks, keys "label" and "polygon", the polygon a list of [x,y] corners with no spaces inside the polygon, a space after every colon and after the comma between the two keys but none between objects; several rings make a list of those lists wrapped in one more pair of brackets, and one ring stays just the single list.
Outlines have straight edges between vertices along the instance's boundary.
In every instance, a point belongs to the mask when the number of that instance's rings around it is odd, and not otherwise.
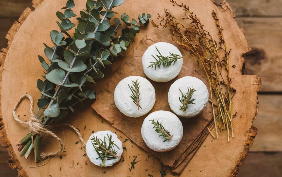
[{"label": "bundle of green eucalyptus branches tied with twine", "polygon": [[[41,158],[61,152],[62,144],[61,149],[55,153],[41,153],[39,145],[44,135],[42,130],[49,131],[66,117],[69,110],[74,112],[75,104],[82,103],[87,98],[95,99],[95,91],[85,91],[83,86],[95,83],[94,79],[103,78],[104,74],[100,69],[111,64],[115,57],[122,56],[122,52],[127,50],[135,35],[140,32],[139,23],[149,21],[150,14],[143,13],[138,16],[138,21],[134,18],[130,21],[129,16],[123,13],[121,21],[114,18],[115,24],[112,25],[110,20],[117,13],[112,9],[123,2],[124,0],[88,0],[86,9],[80,11],[80,17],[77,18],[77,26],[70,21],[71,17],[77,16],[72,11],[75,6],[73,0],[67,1],[62,8],[66,9],[64,13],[56,13],[61,22],[56,21],[60,30],[50,33],[54,46],[44,44],[48,62],[38,56],[46,76],[37,81],[37,88],[42,96],[38,99],[38,110],[34,118],[42,126],[20,141],[18,146],[21,156],[27,159],[34,149],[35,161],[39,162]],[[122,23],[127,27],[117,35],[117,29]],[[74,27],[75,33],[70,35],[67,31]]]}]

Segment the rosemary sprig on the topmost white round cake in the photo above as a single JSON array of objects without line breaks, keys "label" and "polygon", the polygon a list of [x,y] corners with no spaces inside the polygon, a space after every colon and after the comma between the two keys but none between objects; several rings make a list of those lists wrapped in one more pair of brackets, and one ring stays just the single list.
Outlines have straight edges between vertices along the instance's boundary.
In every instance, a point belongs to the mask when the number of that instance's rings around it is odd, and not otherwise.
[{"label": "rosemary sprig on the topmost white round cake", "polygon": [[[157,68],[157,66],[159,67],[160,69],[160,66],[162,65],[163,67],[166,66],[166,67],[170,67],[170,65],[173,63],[175,63],[178,59],[181,59],[183,57],[180,57],[180,55],[176,55],[176,54],[173,54],[173,53],[170,53],[169,52],[169,56],[162,56],[162,54],[160,53],[160,51],[158,50],[158,48],[156,47],[158,53],[160,55],[156,55],[158,57],[158,59],[156,57],[154,57],[152,55],[152,57],[155,58],[156,62],[150,62],[152,64],[150,64],[147,68],[152,68],[155,66],[155,69]],[[184,56],[185,57],[185,56]]]}]

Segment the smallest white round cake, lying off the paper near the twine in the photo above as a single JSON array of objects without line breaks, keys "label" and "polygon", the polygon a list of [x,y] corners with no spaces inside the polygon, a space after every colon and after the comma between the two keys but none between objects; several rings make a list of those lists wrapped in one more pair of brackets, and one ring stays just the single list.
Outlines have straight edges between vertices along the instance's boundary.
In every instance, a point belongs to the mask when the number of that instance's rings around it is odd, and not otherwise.
[{"label": "smallest white round cake, lying off the paper near the twine", "polygon": [[[94,149],[93,147],[93,144],[92,144],[92,140],[91,138],[96,137],[98,139],[101,139],[102,141],[104,141],[104,137],[106,137],[106,143],[107,145],[109,145],[109,140],[107,139],[108,138],[108,135],[109,137],[112,135],[112,141],[117,145],[117,148],[115,145],[113,146],[113,149],[115,151],[117,151],[117,158],[116,159],[110,159],[110,160],[106,160],[105,161],[105,166],[112,166],[114,163],[120,161],[120,158],[121,158],[121,154],[122,154],[122,142],[117,138],[117,135],[111,131],[100,131],[100,132],[96,132],[96,133],[93,133],[87,143],[86,143],[86,154],[88,156],[88,158],[90,159],[90,161],[97,165],[97,166],[103,166],[103,161],[99,158],[96,150]],[[98,159],[96,159],[98,158]]]}]

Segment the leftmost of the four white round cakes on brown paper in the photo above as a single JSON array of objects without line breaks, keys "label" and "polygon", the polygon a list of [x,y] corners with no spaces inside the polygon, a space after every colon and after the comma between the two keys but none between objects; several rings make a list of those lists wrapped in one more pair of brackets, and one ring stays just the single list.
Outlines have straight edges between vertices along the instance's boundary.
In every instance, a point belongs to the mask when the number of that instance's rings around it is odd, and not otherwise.
[{"label": "leftmost of the four white round cakes on brown paper", "polygon": [[[142,109],[139,108],[139,110],[137,108],[137,105],[130,98],[132,92],[129,86],[130,87],[132,86],[134,88],[132,81],[135,82],[136,80],[138,80],[138,82],[140,83],[139,105]],[[129,117],[137,118],[147,114],[153,108],[156,101],[155,88],[150,83],[150,81],[148,81],[144,77],[129,76],[122,79],[115,87],[114,100],[115,100],[115,105],[120,110],[120,112],[122,112],[123,114]]]}]

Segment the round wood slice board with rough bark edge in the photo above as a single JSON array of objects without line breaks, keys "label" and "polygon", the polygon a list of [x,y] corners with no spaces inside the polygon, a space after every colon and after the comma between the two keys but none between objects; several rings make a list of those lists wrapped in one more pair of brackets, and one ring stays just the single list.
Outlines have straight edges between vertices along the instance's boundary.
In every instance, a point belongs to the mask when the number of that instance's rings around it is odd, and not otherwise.
[{"label": "round wood slice board with rough bark edge", "polygon": [[[9,151],[9,165],[13,169],[18,168],[19,176],[147,176],[148,174],[159,176],[160,161],[130,141],[123,143],[123,146],[127,148],[127,151],[123,153],[124,161],[121,160],[114,166],[107,168],[93,165],[87,156],[83,156],[85,151],[81,150],[82,145],[76,144],[78,138],[74,132],[65,127],[54,130],[63,139],[65,152],[49,159],[46,165],[29,168],[38,165],[34,163],[33,154],[28,159],[20,157],[16,144],[28,133],[28,130],[13,120],[12,109],[26,92],[33,96],[34,101],[40,97],[36,88],[36,81],[43,74],[43,69],[40,67],[37,55],[44,56],[43,42],[52,45],[49,33],[51,30],[58,29],[55,22],[57,20],[56,11],[61,11],[60,7],[65,6],[65,3],[66,1],[54,3],[51,0],[33,0],[35,10],[31,11],[30,8],[27,8],[6,35],[9,40],[8,47],[1,50],[0,56],[0,142]],[[75,1],[74,12],[79,14],[79,11],[85,8],[85,3],[86,0]],[[199,16],[203,24],[211,23],[212,10],[216,11],[221,21],[226,44],[229,48],[232,48],[230,63],[231,66],[235,65],[234,68],[230,69],[230,76],[233,81],[231,86],[237,89],[233,99],[233,110],[236,108],[237,113],[234,118],[235,137],[231,138],[228,143],[226,131],[220,133],[219,139],[213,139],[209,135],[180,176],[236,176],[239,166],[244,161],[256,136],[257,128],[252,126],[252,122],[258,112],[257,91],[261,89],[261,80],[257,76],[242,75],[245,69],[242,55],[250,51],[250,48],[243,30],[238,27],[234,20],[234,12],[226,1],[223,1],[220,5],[210,0],[183,0],[183,3],[191,7],[191,10]],[[139,13],[150,13],[152,19],[155,20],[158,13],[163,14],[164,8],[171,10],[171,12],[181,11],[180,8],[173,7],[167,0],[154,1],[153,4],[149,0],[142,2],[127,0],[115,10],[125,12],[124,9],[126,9],[126,13],[135,18]],[[154,28],[151,23],[141,30],[128,50],[132,50],[139,43],[149,28]],[[213,30],[216,34],[216,29]],[[130,53],[130,51],[126,53]],[[125,54],[125,57],[127,57],[127,54]],[[122,60],[117,60],[110,69],[115,71],[121,62]],[[109,79],[110,74],[106,75],[93,88],[99,93]],[[76,112],[66,118],[66,122],[80,129],[85,141],[93,130],[95,132],[117,131],[91,108],[91,103],[93,102],[86,101],[85,107],[76,107]],[[18,108],[17,114],[21,120],[28,120],[28,110],[29,104],[25,100]],[[120,131],[116,133],[121,140],[127,138]],[[58,144],[55,141],[46,139],[42,148],[44,151],[51,151],[56,147],[58,147]],[[137,160],[140,161],[135,164],[135,169],[130,172],[128,167],[130,167],[133,156],[138,156]],[[40,164],[45,162],[40,162]],[[165,169],[168,176],[174,175],[167,167]]]}]

